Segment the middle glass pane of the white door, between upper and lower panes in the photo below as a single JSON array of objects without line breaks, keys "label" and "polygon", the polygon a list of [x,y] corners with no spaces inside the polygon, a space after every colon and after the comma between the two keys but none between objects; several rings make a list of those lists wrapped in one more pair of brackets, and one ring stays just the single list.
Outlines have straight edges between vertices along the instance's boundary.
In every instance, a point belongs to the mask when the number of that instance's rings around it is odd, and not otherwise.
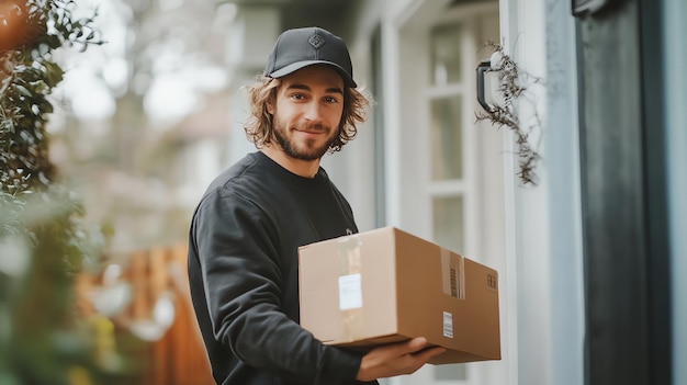
[{"label": "middle glass pane of the white door, between upper and lower panes", "polygon": [[462,98],[460,95],[431,100],[431,179],[463,177]]}]

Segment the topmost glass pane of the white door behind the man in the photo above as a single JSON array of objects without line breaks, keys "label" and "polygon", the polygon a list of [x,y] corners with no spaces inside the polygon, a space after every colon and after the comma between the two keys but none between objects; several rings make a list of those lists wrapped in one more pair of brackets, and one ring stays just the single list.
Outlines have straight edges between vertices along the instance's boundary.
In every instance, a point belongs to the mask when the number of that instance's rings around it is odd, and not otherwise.
[{"label": "topmost glass pane of the white door behind the man", "polygon": [[431,84],[461,81],[460,25],[441,25],[431,31]]}]

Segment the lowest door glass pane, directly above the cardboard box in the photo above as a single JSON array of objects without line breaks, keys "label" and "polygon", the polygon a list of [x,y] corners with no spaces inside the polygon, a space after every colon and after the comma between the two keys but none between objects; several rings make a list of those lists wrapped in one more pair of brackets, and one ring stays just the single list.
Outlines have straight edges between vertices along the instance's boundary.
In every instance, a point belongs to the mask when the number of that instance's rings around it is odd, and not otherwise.
[{"label": "lowest door glass pane, directly above the cardboard box", "polygon": [[435,197],[432,202],[433,236],[437,245],[461,253],[463,237],[463,197]]}]

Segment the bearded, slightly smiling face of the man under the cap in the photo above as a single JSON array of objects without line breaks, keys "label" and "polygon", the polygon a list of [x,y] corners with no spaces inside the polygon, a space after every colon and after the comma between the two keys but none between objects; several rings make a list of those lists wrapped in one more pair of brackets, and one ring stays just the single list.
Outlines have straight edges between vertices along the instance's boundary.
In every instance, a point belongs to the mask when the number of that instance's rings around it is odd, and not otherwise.
[{"label": "bearded, slightly smiling face of the man under the cap", "polygon": [[274,139],[294,159],[322,158],[339,132],[344,79],[328,66],[308,66],[281,78],[274,115]]}]

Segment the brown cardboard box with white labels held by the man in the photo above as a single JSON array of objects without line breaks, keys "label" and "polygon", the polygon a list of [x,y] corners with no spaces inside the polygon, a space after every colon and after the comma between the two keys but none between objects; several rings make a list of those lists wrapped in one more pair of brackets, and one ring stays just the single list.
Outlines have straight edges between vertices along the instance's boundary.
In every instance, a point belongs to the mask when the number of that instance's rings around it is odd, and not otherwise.
[{"label": "brown cardboard box with white labels held by the man", "polygon": [[430,363],[500,360],[498,275],[384,227],[299,249],[301,325],[326,344],[369,350],[425,337]]}]

